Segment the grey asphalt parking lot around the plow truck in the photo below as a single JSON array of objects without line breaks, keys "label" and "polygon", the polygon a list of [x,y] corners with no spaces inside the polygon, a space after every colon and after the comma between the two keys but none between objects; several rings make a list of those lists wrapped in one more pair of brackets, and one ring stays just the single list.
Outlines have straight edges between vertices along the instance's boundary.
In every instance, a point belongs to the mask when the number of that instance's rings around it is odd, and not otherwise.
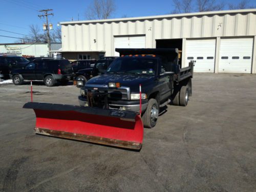
[{"label": "grey asphalt parking lot around the plow truck", "polygon": [[[0,85],[0,191],[254,191],[256,75],[200,74],[168,105],[140,152],[35,135],[30,83]],[[33,101],[78,104],[75,86],[33,86]]]}]

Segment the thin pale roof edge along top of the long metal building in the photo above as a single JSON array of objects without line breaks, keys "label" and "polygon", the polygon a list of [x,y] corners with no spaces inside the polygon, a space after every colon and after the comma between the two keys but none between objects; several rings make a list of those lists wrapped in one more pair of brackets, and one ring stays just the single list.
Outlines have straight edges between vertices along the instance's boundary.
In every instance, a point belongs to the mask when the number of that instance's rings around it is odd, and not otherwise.
[{"label": "thin pale roof edge along top of the long metal building", "polygon": [[128,21],[128,20],[162,19],[162,18],[173,18],[173,17],[189,17],[189,16],[200,16],[200,15],[232,14],[232,13],[256,13],[256,9],[207,11],[207,12],[196,12],[196,13],[181,13],[181,14],[168,14],[168,15],[142,16],[142,17],[127,17],[127,18],[112,18],[112,19],[99,19],[99,20],[77,20],[77,21],[73,21],[73,22],[61,22],[60,25],[122,22],[122,21]]}]

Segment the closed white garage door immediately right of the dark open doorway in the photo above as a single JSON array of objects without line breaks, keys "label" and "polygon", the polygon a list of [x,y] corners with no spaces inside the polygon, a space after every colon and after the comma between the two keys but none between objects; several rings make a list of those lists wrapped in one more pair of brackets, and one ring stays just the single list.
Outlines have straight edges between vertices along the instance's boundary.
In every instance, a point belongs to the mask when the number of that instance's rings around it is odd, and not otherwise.
[{"label": "closed white garage door immediately right of the dark open doorway", "polygon": [[196,60],[195,72],[214,73],[216,39],[186,40],[185,67]]}]

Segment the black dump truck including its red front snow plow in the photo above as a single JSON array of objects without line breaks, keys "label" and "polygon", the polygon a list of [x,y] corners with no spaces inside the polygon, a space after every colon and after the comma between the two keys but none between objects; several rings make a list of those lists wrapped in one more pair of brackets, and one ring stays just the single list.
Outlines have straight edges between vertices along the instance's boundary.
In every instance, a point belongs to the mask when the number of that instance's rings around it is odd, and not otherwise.
[{"label": "black dump truck including its red front snow plow", "polygon": [[143,127],[156,125],[162,106],[186,106],[194,61],[180,68],[178,49],[116,49],[104,74],[80,89],[79,106],[29,102],[35,133],[140,150]]}]

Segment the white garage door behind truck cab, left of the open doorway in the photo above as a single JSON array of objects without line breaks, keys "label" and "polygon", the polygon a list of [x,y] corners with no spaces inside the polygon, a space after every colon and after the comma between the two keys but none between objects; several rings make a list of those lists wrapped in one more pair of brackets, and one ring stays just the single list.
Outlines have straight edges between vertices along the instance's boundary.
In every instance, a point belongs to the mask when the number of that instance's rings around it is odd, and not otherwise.
[{"label": "white garage door behind truck cab, left of the open doorway", "polygon": [[[145,48],[145,36],[114,37],[116,48]],[[115,56],[119,56],[119,53],[115,52]]]}]

